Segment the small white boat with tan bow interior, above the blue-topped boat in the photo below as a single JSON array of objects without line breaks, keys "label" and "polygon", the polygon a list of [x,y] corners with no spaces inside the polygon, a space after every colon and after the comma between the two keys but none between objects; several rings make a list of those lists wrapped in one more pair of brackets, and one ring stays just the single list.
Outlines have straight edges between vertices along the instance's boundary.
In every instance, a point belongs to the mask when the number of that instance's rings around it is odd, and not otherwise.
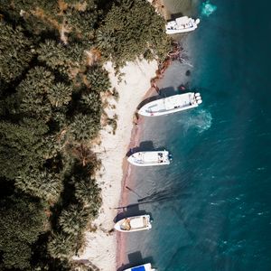
[{"label": "small white boat with tan bow interior, above the blue-topped boat", "polygon": [[151,217],[146,214],[142,216],[129,217],[117,221],[114,228],[122,232],[134,232],[139,230],[152,229]]}]

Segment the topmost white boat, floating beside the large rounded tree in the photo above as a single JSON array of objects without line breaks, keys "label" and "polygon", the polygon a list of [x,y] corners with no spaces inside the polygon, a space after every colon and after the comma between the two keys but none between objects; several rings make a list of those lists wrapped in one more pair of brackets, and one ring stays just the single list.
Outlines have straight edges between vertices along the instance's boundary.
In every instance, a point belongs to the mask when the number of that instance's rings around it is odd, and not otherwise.
[{"label": "topmost white boat, floating beside the large rounded tree", "polygon": [[200,19],[192,19],[188,16],[179,17],[173,21],[166,23],[165,33],[175,34],[175,33],[185,33],[195,30],[200,23]]}]

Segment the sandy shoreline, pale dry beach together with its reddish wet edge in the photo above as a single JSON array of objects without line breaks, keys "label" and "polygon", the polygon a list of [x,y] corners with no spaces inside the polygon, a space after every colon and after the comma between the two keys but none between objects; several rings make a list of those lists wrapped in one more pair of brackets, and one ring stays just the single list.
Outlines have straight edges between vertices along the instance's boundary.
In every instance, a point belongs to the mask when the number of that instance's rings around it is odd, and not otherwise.
[{"label": "sandy shoreline, pale dry beach together with its reddish wet edge", "polygon": [[[163,0],[148,2],[154,5],[158,14],[168,18]],[[113,97],[104,100],[107,116],[114,118],[117,115],[117,129],[114,135],[112,126],[104,126],[98,140],[94,142],[93,151],[102,162],[101,169],[96,173],[101,188],[102,206],[98,218],[92,221],[86,232],[85,246],[79,251],[78,257],[73,257],[75,262],[100,271],[122,270],[121,266],[126,264],[122,259],[125,254],[121,252],[126,248],[126,236],[114,230],[114,221],[119,213],[117,207],[126,206],[128,200],[125,186],[131,179],[131,167],[126,161],[126,153],[139,144],[142,132],[143,117],[138,117],[135,121],[137,107],[145,98],[156,93],[154,83],[163,77],[168,65],[169,60],[162,63],[145,59],[126,62],[126,66],[120,70],[124,74],[120,81],[112,63],[104,65],[112,84],[111,89],[117,89],[119,95],[117,100]],[[117,148],[121,150],[116,153]],[[119,168],[118,164],[121,164]]]}]

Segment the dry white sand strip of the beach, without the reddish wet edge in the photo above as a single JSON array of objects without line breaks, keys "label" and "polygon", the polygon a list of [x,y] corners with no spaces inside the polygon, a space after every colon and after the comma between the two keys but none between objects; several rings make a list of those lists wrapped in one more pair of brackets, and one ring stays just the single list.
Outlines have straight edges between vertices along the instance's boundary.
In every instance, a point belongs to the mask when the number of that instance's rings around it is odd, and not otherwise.
[{"label": "dry white sand strip of the beach, without the reddish wet edge", "polygon": [[93,223],[98,229],[96,232],[87,232],[86,248],[79,257],[74,259],[87,265],[92,263],[102,271],[114,271],[116,270],[117,235],[115,231],[111,234],[108,231],[113,229],[113,220],[117,216],[117,210],[114,208],[120,201],[122,164],[130,142],[133,116],[136,107],[151,87],[150,79],[155,76],[157,62],[148,63],[145,60],[128,62],[126,67],[121,70],[125,75],[119,83],[114,76],[111,63],[108,62],[105,68],[109,72],[113,88],[116,88],[119,93],[117,102],[113,98],[107,100],[110,105],[116,105],[116,108],[106,109],[108,117],[117,114],[117,130],[116,135],[109,134],[108,132],[112,128],[106,126],[100,132],[101,145],[97,146],[96,151],[103,165],[99,173],[101,176],[98,176],[103,204],[98,219]]}]

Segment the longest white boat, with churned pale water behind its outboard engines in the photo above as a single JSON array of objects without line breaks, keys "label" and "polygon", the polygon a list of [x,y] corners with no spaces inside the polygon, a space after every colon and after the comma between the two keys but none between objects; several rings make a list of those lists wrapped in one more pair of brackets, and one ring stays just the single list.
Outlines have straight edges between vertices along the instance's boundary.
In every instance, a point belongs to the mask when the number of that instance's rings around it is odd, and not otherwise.
[{"label": "longest white boat, with churned pale water behind its outboard engines", "polygon": [[138,110],[138,114],[156,117],[198,107],[202,102],[201,94],[188,92],[151,101]]}]

